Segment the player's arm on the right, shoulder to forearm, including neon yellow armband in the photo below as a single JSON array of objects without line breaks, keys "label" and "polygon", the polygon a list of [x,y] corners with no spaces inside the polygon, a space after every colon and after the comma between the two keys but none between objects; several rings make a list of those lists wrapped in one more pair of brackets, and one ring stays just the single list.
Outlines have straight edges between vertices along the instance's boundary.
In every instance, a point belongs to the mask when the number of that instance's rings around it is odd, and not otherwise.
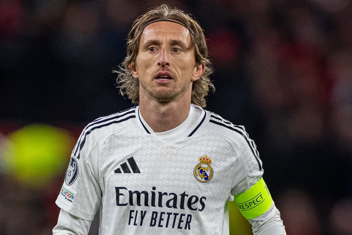
[{"label": "player's arm on the right, shoulder to forearm, including neon yellow armband", "polygon": [[[237,139],[236,155],[238,161],[236,166],[238,171],[244,172],[239,184],[234,184],[233,194],[234,201],[243,216],[252,224],[254,235],[286,235],[285,227],[280,218],[280,212],[277,210],[269,188],[266,186],[262,176],[262,161],[259,158],[256,145],[248,138],[247,133],[243,130],[244,139]],[[238,175],[236,175],[237,178]]]}]

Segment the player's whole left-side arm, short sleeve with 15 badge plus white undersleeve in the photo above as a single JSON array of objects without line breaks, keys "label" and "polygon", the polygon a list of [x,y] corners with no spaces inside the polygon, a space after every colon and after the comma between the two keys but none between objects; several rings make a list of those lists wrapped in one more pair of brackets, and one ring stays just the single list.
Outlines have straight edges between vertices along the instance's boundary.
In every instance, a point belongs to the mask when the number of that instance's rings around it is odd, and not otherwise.
[{"label": "player's whole left-side arm, short sleeve with 15 badge plus white undersleeve", "polygon": [[54,235],[88,234],[90,223],[100,207],[99,151],[92,136],[90,134],[86,138],[84,130],[72,151],[65,180],[55,202],[61,211],[53,229]]}]

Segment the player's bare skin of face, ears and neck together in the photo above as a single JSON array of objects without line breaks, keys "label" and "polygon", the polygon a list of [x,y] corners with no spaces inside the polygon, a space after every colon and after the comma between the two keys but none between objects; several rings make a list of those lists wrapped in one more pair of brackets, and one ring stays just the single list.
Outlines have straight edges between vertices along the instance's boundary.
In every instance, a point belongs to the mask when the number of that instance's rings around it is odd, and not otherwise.
[{"label": "player's bare skin of face, ears and neck together", "polygon": [[188,117],[193,81],[205,69],[205,64],[196,65],[190,44],[188,29],[176,23],[159,21],[143,30],[130,69],[139,79],[140,113],[154,132],[171,130]]}]

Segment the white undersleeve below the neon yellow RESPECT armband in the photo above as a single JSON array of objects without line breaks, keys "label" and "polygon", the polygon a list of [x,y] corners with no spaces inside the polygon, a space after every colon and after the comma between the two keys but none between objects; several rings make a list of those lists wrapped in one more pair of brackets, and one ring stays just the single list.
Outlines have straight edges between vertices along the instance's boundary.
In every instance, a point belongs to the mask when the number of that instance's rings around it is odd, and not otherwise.
[{"label": "white undersleeve below the neon yellow RESPECT armband", "polygon": [[250,219],[254,235],[286,235],[285,226],[274,202],[263,215]]}]

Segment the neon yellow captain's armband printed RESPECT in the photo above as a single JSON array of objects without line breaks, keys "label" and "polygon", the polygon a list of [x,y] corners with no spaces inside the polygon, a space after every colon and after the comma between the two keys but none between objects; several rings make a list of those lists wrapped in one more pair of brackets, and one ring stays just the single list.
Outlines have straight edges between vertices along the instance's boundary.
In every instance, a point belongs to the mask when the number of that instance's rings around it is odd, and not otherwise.
[{"label": "neon yellow captain's armband printed RESPECT", "polygon": [[271,206],[272,198],[263,178],[249,190],[234,196],[234,202],[246,219],[263,215]]}]

